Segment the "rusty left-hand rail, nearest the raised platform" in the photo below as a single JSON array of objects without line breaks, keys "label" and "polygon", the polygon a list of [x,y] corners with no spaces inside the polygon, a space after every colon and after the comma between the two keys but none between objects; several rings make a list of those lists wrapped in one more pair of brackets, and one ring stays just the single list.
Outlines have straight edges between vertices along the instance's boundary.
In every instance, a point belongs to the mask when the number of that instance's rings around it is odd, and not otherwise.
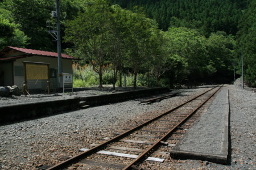
[{"label": "rusty left-hand rail, nearest the raised platform", "polygon": [[[218,86],[216,86],[216,87],[218,87]],[[151,120],[148,120],[148,121],[144,122],[143,124],[136,126],[136,127],[133,128],[133,129],[127,130],[127,131],[125,131],[124,133],[119,134],[117,137],[114,137],[114,138],[112,138],[112,139],[109,139],[108,141],[103,142],[103,143],[101,143],[100,145],[95,146],[95,147],[93,147],[93,148],[90,148],[89,150],[84,151],[84,152],[82,152],[82,153],[79,154],[79,155],[73,156],[72,158],[69,158],[69,159],[65,160],[64,162],[61,162],[61,163],[56,164],[56,165],[53,165],[53,167],[50,167],[50,168],[48,168],[47,170],[63,169],[63,168],[65,168],[65,167],[67,167],[68,165],[77,163],[77,162],[79,162],[79,160],[84,159],[84,158],[86,158],[87,156],[96,153],[97,151],[101,150],[102,148],[105,148],[105,147],[106,147],[107,145],[109,145],[110,143],[116,142],[116,141],[118,141],[119,139],[126,137],[127,135],[133,133],[135,130],[138,130],[138,129],[142,128],[143,126],[145,126],[145,125],[147,125],[147,124],[150,124],[150,122],[155,121],[155,120],[157,120],[158,118],[163,117],[164,115],[166,115],[166,114],[168,114],[168,113],[174,111],[175,109],[180,108],[180,107],[183,106],[184,104],[187,104],[187,103],[189,103],[190,101],[196,99],[197,97],[200,97],[200,96],[206,94],[207,92],[213,90],[213,89],[216,88],[216,87],[213,87],[213,88],[211,88],[210,90],[205,91],[205,92],[203,92],[202,94],[197,95],[196,97],[193,97],[193,99],[191,99],[191,100],[185,101],[183,104],[180,104],[180,105],[178,105],[177,107],[175,107],[175,108],[173,108],[173,109],[170,109],[169,111],[167,111],[167,112],[165,112],[165,113],[163,113],[163,114],[160,114],[159,116],[156,116],[155,118],[152,118]]]}]

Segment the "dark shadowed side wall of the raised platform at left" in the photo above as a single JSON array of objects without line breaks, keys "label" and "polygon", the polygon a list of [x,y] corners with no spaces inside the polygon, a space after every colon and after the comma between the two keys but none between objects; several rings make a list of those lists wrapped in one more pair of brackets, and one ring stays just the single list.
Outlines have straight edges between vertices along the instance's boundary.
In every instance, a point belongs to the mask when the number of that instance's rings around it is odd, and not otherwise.
[{"label": "dark shadowed side wall of the raised platform at left", "polygon": [[71,111],[79,108],[80,101],[86,101],[86,104],[102,105],[109,103],[117,103],[120,101],[131,100],[138,97],[150,96],[170,92],[168,88],[151,88],[140,91],[117,92],[114,94],[97,95],[89,97],[76,97],[72,99],[61,99],[42,101],[35,103],[6,105],[0,107],[0,124],[8,122],[24,120],[27,118],[37,118],[49,116],[58,112]]}]

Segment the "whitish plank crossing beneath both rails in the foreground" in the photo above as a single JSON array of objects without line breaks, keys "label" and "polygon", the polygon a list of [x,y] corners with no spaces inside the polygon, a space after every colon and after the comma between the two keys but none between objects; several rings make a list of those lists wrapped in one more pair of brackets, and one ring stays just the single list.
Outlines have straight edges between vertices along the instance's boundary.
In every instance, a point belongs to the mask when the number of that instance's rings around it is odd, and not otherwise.
[{"label": "whitish plank crossing beneath both rails in the foreground", "polygon": [[[88,148],[81,148],[80,151],[87,151],[89,150]],[[125,157],[125,158],[133,158],[136,159],[138,158],[138,155],[131,155],[131,154],[122,154],[122,153],[117,153],[117,152],[109,152],[109,151],[98,151],[97,154],[105,154],[105,155],[112,155],[112,156],[120,156],[120,157]],[[164,159],[160,158],[154,158],[154,157],[148,157],[146,160],[152,161],[152,162],[164,162]]]}]

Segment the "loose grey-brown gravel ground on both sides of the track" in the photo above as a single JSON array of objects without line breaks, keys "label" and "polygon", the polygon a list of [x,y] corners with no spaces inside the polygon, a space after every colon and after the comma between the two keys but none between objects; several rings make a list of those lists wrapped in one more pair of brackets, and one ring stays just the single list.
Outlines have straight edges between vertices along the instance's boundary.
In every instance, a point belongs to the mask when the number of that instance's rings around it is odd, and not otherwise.
[{"label": "loose grey-brown gravel ground on both sides of the track", "polygon": [[[163,163],[159,169],[255,169],[255,93],[235,85],[227,87],[231,109],[231,165],[172,160],[175,164]],[[159,103],[138,104],[138,100],[130,100],[0,126],[0,169],[37,169],[40,165],[59,163],[78,154],[80,148],[101,142],[104,137],[113,137],[115,132],[150,117],[150,113],[170,109],[207,88],[184,90],[183,94]]]}]

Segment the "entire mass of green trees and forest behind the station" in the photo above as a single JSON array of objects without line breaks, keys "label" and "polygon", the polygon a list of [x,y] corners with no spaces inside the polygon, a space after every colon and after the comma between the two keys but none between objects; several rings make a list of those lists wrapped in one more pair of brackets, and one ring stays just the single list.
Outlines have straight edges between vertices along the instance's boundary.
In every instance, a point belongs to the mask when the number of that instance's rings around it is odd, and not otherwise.
[{"label": "entire mass of green trees and forest behind the station", "polygon": [[[62,48],[82,59],[77,68],[95,71],[90,82],[113,88],[123,73],[133,73],[134,87],[227,82],[234,59],[241,74],[243,49],[245,80],[255,86],[255,1],[62,0]],[[0,49],[56,51],[46,29],[56,27],[53,10],[54,0],[0,1]]]}]

